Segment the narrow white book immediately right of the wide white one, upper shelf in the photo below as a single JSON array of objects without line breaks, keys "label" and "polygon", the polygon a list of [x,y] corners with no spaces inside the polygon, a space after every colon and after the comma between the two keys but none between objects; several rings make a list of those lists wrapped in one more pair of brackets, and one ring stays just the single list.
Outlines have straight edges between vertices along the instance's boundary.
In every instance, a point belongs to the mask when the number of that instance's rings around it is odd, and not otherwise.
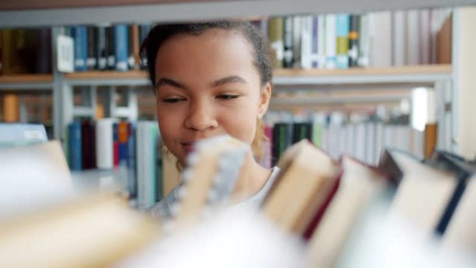
[{"label": "narrow white book immediately right of the wide white one, upper shelf", "polygon": [[406,12],[404,10],[393,12],[392,28],[392,63],[395,66],[402,66],[406,61]]}]

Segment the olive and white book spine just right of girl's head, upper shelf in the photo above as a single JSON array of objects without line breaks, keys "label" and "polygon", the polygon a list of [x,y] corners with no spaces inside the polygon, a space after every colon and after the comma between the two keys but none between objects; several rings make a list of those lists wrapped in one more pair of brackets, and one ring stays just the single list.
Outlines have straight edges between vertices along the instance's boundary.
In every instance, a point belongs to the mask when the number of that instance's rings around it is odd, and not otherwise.
[{"label": "olive and white book spine just right of girl's head, upper shelf", "polygon": [[272,17],[268,23],[268,39],[271,46],[273,68],[283,68],[284,57],[284,21],[282,17]]}]

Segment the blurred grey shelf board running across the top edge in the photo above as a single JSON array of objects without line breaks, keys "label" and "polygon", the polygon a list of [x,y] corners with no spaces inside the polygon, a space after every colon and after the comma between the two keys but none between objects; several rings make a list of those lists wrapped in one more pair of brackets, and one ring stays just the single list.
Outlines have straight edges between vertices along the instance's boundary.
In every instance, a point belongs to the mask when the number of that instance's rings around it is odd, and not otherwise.
[{"label": "blurred grey shelf board running across the top edge", "polygon": [[[190,19],[223,19],[230,17],[259,17],[308,13],[363,13],[377,10],[465,6],[473,0],[415,0],[415,1],[359,1],[351,0],[216,0],[170,1],[141,0],[138,4],[125,5],[126,1],[51,0],[45,3],[10,1],[0,5],[0,27],[54,26],[72,24],[97,24],[102,22],[186,22]],[[107,6],[107,8],[104,8]],[[87,15],[85,15],[87,14]]]}]

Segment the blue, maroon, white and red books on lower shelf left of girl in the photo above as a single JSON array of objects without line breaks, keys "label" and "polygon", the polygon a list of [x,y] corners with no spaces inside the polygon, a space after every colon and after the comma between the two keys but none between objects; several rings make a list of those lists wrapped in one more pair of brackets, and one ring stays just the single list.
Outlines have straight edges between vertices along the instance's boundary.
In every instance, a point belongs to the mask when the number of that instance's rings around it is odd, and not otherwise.
[{"label": "blue, maroon, white and red books on lower shelf left of girl", "polygon": [[136,123],[104,118],[68,125],[66,153],[72,171],[124,168],[127,193],[138,207],[162,198],[159,127],[155,121]]}]

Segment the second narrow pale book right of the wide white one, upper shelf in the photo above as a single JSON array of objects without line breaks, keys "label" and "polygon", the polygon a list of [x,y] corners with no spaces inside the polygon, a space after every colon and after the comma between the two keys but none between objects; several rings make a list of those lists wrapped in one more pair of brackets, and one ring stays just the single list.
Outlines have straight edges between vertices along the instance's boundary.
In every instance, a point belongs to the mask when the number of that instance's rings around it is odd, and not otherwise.
[{"label": "second narrow pale book right of the wide white one, upper shelf", "polygon": [[408,10],[406,19],[406,64],[418,65],[420,61],[418,10]]}]

